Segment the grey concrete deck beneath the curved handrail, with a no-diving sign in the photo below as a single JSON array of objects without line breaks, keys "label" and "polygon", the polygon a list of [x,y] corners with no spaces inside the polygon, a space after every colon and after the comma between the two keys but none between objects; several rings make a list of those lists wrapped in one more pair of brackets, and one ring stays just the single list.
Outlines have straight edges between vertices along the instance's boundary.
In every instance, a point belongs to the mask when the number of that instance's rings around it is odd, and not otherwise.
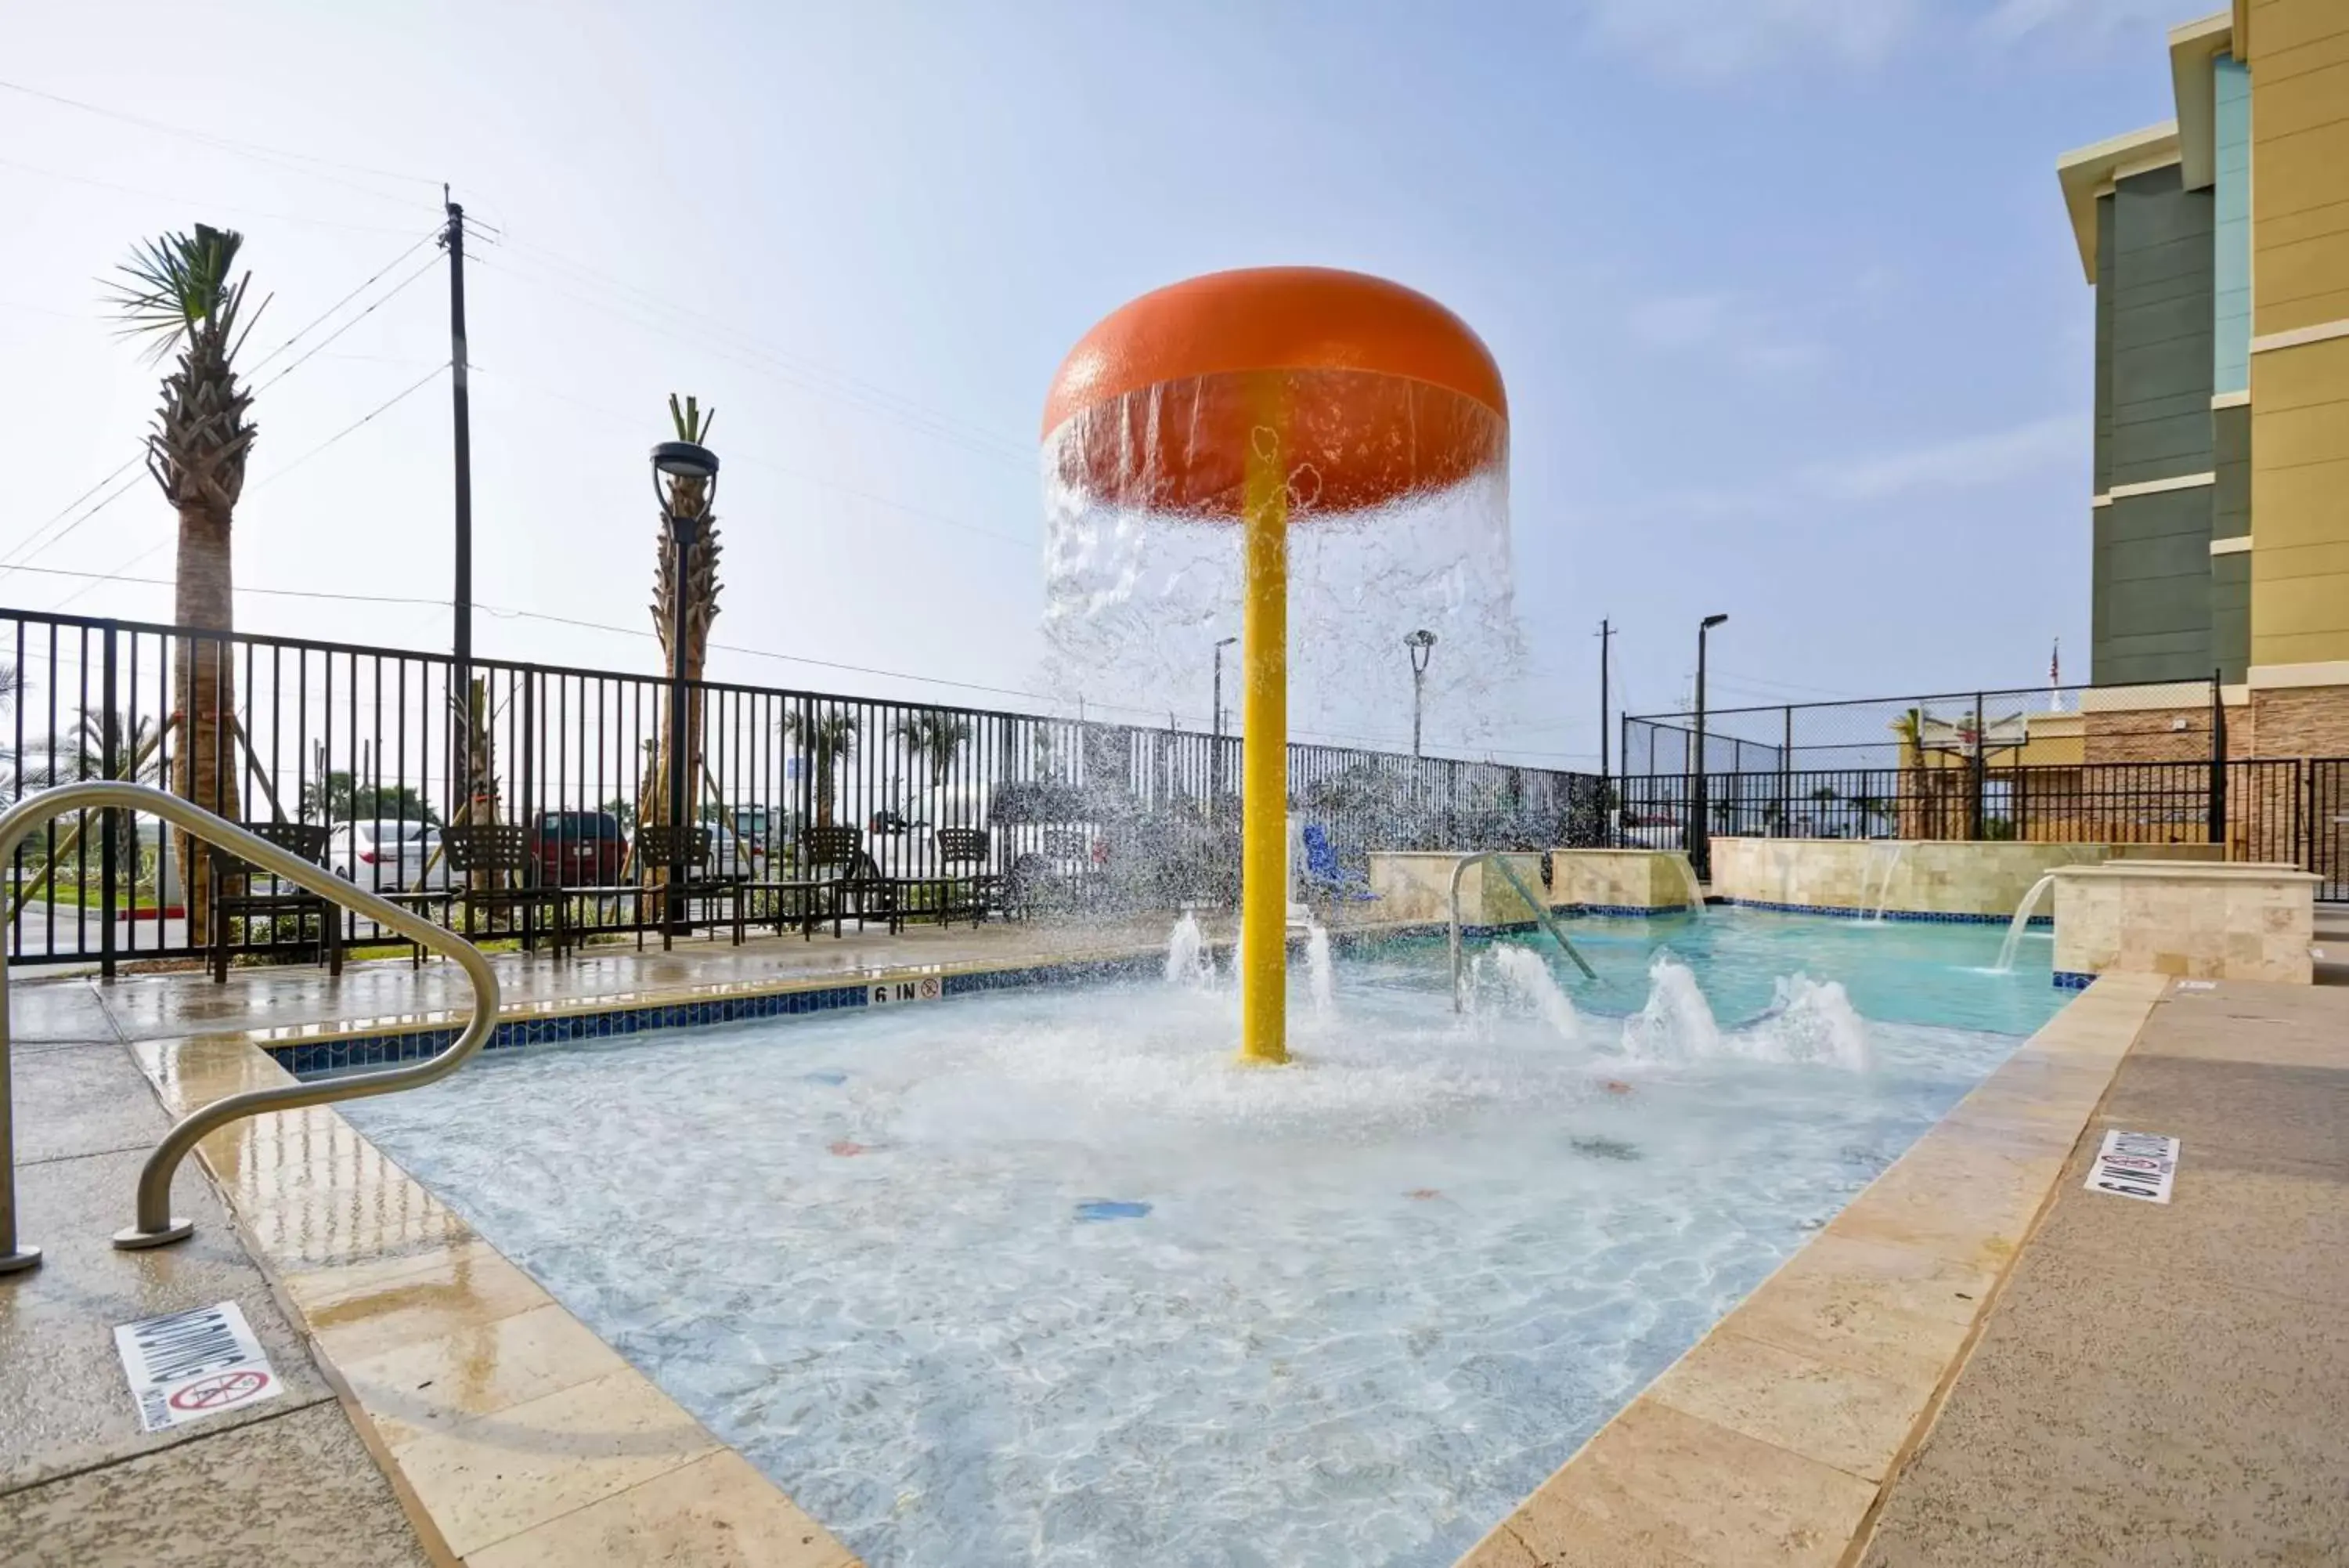
[{"label": "grey concrete deck beneath the curved handrail, with a no-diving sign", "polygon": [[[0,1279],[0,1561],[432,1563],[202,1171],[183,1166],[171,1190],[193,1241],[108,1244],[169,1119],[87,987],[23,990],[56,994],[19,1009],[14,1053],[16,1218],[42,1265]],[[221,1300],[244,1309],[287,1392],[141,1432],[113,1326]]]}]

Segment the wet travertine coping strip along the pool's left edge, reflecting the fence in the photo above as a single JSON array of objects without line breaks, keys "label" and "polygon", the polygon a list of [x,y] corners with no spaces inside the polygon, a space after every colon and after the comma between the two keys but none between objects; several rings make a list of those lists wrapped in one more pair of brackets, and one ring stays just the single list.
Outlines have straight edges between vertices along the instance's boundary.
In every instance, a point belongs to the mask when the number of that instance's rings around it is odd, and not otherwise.
[{"label": "wet travertine coping strip along the pool's left edge, reflecting the fence", "polygon": [[[174,1114],[291,1081],[244,1034],[134,1051]],[[857,1561],[334,1107],[237,1121],[197,1157],[442,1561]]]}]

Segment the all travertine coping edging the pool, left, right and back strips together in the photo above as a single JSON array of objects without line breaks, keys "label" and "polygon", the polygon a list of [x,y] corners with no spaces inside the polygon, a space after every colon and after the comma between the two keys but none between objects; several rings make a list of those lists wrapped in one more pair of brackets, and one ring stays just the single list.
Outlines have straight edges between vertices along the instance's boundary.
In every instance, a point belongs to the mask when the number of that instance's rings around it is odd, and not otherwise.
[{"label": "all travertine coping edging the pool, left, right and back strips together", "polygon": [[[1057,964],[1135,957],[1125,947]],[[1835,1563],[1954,1378],[2006,1262],[2166,985],[2105,976],[2081,992],[1609,1420],[1463,1568]],[[444,1023],[402,1016],[301,1037]],[[289,1081],[270,1044],[284,1046],[287,1032],[132,1048],[181,1114]],[[857,1561],[334,1107],[233,1124],[202,1140],[197,1157],[435,1554],[472,1568]]]}]

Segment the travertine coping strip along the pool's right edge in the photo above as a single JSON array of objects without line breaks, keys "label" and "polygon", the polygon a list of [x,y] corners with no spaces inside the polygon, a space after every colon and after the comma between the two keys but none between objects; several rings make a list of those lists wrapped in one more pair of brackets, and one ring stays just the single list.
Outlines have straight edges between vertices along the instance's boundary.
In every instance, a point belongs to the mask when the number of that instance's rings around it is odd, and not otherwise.
[{"label": "travertine coping strip along the pool's right edge", "polygon": [[2074,997],[1461,1568],[1846,1561],[2168,985]]}]

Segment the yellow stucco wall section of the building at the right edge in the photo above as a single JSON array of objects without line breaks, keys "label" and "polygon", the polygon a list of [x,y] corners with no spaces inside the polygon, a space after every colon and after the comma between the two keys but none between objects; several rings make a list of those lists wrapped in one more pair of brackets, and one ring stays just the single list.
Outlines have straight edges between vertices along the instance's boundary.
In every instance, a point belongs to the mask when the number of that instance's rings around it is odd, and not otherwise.
[{"label": "yellow stucco wall section of the building at the right edge", "polygon": [[[2349,2],[2243,9],[2257,341],[2349,322]],[[2349,658],[2349,336],[2253,353],[2250,517],[2250,663]]]}]

